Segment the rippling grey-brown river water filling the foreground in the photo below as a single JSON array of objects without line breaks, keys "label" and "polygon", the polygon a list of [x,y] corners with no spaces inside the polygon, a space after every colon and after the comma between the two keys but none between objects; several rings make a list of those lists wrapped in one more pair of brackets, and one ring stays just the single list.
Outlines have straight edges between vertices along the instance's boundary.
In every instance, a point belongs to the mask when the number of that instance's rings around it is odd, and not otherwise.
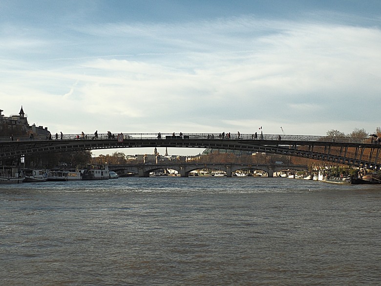
[{"label": "rippling grey-brown river water filling the foreground", "polygon": [[0,285],[380,285],[381,186],[151,177],[0,185]]}]

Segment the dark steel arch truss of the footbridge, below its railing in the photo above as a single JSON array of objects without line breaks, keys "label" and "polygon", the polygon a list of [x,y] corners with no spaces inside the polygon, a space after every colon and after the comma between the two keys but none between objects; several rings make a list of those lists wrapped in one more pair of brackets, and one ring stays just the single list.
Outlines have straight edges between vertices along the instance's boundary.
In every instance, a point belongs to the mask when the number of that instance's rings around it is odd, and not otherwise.
[{"label": "dark steel arch truss of the footbridge, below its railing", "polygon": [[157,139],[155,137],[144,138],[142,136],[141,138],[128,137],[122,142],[118,142],[117,139],[78,140],[72,138],[64,140],[0,142],[0,160],[49,152],[116,148],[178,147],[281,154],[350,165],[364,169],[381,170],[380,144],[335,142],[335,140],[324,140],[322,137],[318,139],[314,138],[314,141],[306,140],[308,138],[303,139],[207,139],[204,134],[203,136],[193,137],[167,136],[165,139]]}]

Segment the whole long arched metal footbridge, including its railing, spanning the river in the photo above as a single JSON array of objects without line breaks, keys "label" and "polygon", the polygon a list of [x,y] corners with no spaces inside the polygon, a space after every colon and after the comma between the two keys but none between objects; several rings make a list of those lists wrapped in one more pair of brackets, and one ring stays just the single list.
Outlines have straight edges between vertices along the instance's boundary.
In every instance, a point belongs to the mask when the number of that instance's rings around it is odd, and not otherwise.
[{"label": "whole long arched metal footbridge, including its railing, spanning the river", "polygon": [[[332,137],[315,135],[279,135],[232,134],[230,138],[218,133],[194,134],[182,136],[168,133],[158,138],[155,133],[120,134],[110,138],[107,134],[86,134],[77,139],[76,134],[64,134],[63,140],[47,138],[15,137],[0,138],[0,160],[9,157],[21,157],[29,154],[48,152],[99,150],[113,148],[212,148],[243,150],[297,156],[337,164],[381,170],[381,145],[374,138]],[[376,138],[380,139],[380,138]]]}]

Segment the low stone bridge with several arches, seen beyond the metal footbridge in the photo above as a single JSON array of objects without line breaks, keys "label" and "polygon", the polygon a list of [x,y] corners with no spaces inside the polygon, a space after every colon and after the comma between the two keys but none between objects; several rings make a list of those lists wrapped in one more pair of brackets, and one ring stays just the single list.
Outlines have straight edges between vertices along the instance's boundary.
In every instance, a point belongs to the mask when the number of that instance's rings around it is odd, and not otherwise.
[{"label": "low stone bridge with several arches, seen beyond the metal footbridge", "polygon": [[292,164],[242,164],[242,163],[166,163],[166,164],[127,164],[127,165],[109,165],[110,171],[121,174],[134,173],[140,177],[148,177],[149,173],[155,170],[172,169],[178,172],[182,177],[188,177],[189,173],[199,169],[212,169],[226,172],[227,177],[232,173],[242,169],[261,170],[273,177],[274,172],[284,170],[308,170],[306,165]]}]

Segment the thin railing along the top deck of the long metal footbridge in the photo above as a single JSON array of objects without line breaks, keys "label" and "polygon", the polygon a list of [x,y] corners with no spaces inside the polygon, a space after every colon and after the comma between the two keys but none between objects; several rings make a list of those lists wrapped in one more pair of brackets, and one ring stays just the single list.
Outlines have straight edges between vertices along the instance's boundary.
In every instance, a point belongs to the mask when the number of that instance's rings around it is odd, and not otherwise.
[{"label": "thin railing along the top deck of the long metal footbridge", "polygon": [[[158,133],[121,133],[123,140],[130,139],[159,139]],[[95,137],[93,133],[86,133],[83,136],[79,134],[63,134],[62,140],[118,140],[118,134],[109,136],[107,133],[99,133]],[[338,142],[338,143],[360,143],[360,144],[378,144],[379,142],[371,137],[335,137],[321,135],[279,135],[279,134],[240,134],[230,133],[230,137],[225,133],[161,133],[161,140],[166,139],[195,139],[195,140],[271,140],[271,141],[320,141],[320,142]],[[51,137],[46,135],[36,135],[31,138],[29,135],[13,136],[13,141],[40,141],[40,140],[61,140],[60,134],[54,134]],[[0,136],[0,142],[12,141],[11,136]]]}]

